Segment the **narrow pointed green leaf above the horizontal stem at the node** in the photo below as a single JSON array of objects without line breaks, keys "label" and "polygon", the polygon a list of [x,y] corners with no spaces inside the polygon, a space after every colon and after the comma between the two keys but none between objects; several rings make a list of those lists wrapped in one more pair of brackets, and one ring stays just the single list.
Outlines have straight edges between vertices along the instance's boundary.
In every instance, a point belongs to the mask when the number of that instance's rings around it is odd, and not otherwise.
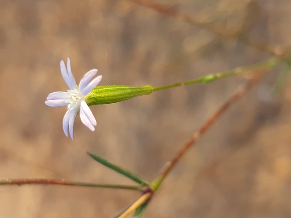
[{"label": "narrow pointed green leaf above the horizontal stem at the node", "polygon": [[117,164],[114,164],[110,161],[107,161],[106,159],[104,159],[98,155],[95,155],[93,153],[88,152],[88,155],[90,155],[91,158],[93,158],[95,161],[99,162],[100,164],[104,165],[105,167],[108,167],[112,170],[115,170],[116,172],[136,181],[137,183],[139,183],[141,185],[150,185],[150,182],[146,181],[145,179],[143,179],[142,177],[140,177],[139,175],[137,175],[136,173],[134,173],[128,169],[120,167]]}]

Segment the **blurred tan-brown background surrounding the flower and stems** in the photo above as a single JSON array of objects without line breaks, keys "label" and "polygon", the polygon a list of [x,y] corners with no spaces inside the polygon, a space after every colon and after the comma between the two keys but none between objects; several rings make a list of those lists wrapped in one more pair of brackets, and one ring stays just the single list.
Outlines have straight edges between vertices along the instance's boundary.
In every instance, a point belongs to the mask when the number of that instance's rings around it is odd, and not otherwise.
[{"label": "blurred tan-brown background surrounding the flower and stems", "polygon": [[[278,48],[291,44],[289,0],[157,3]],[[161,86],[270,54],[130,1],[0,0],[1,178],[134,184],[93,161],[89,151],[152,180],[247,81],[233,77],[92,106],[96,130],[78,116],[72,141],[62,129],[66,107],[44,104],[49,93],[68,89],[60,72],[67,57],[76,81],[97,68],[100,85]],[[283,79],[274,92],[280,70]],[[291,79],[276,67],[184,157],[144,217],[290,217],[290,133]],[[100,188],[1,186],[0,217],[110,217],[139,196]]]}]

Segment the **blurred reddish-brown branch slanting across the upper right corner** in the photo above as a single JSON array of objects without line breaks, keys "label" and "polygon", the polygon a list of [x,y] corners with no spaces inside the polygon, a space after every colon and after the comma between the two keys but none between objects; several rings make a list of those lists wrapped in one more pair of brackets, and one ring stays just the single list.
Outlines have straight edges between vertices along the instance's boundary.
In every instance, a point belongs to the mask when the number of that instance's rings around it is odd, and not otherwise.
[{"label": "blurred reddish-brown branch slanting across the upper right corner", "polygon": [[268,53],[275,54],[277,56],[285,56],[287,55],[288,51],[282,51],[280,49],[276,49],[276,47],[269,45],[267,43],[251,40],[246,34],[240,32],[240,31],[231,31],[228,29],[225,29],[223,27],[215,27],[209,23],[203,23],[202,21],[199,21],[189,15],[185,15],[183,13],[180,13],[174,9],[171,8],[165,8],[162,5],[159,5],[157,3],[149,2],[149,1],[143,1],[143,0],[130,0],[131,2],[134,2],[136,4],[148,7],[150,9],[153,9],[157,12],[160,12],[162,14],[165,14],[167,16],[174,17],[178,20],[185,21],[193,26],[199,27],[201,29],[208,30],[212,33],[215,33],[216,35],[232,38],[239,40],[240,42],[247,44],[249,46],[252,46],[260,51],[265,51]]}]

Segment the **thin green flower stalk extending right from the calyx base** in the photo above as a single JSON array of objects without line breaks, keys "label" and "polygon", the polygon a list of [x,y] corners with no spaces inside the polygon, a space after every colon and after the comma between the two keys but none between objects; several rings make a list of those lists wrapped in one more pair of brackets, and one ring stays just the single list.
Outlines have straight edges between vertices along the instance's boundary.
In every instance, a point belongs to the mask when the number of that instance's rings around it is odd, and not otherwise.
[{"label": "thin green flower stalk extending right from the calyx base", "polygon": [[254,64],[254,65],[250,65],[250,66],[246,66],[246,67],[238,67],[234,70],[229,70],[229,71],[225,71],[225,72],[218,72],[217,74],[209,74],[209,75],[199,77],[199,78],[194,79],[194,80],[188,80],[188,81],[185,81],[182,83],[174,83],[174,84],[165,85],[165,86],[153,87],[152,91],[157,91],[157,90],[161,90],[161,89],[169,89],[172,87],[184,86],[184,85],[193,84],[193,83],[209,83],[209,82],[212,82],[214,80],[224,78],[224,77],[231,77],[231,76],[236,76],[236,75],[240,75],[240,74],[246,74],[246,73],[255,72],[258,70],[271,69],[275,65],[277,65],[279,62],[280,62],[280,59],[278,59],[278,58],[270,58],[267,61],[264,61],[264,62],[261,62],[258,64]]}]

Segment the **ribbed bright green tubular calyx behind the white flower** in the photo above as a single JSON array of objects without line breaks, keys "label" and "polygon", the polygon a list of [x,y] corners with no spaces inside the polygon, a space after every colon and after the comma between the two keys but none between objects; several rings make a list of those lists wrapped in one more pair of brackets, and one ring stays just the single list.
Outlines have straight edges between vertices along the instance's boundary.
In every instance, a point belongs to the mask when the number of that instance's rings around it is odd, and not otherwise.
[{"label": "ribbed bright green tubular calyx behind the white flower", "polygon": [[140,95],[149,95],[153,91],[151,86],[97,86],[86,97],[88,106],[97,104],[111,104],[125,101]]}]

